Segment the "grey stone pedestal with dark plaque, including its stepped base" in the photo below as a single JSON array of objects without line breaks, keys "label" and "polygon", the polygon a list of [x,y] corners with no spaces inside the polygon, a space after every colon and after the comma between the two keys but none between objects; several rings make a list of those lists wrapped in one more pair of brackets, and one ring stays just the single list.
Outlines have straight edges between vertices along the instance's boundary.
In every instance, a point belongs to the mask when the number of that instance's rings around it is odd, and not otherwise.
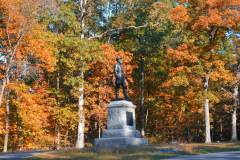
[{"label": "grey stone pedestal with dark plaque, including its stepped base", "polygon": [[136,106],[127,100],[111,101],[108,108],[107,130],[102,137],[95,139],[96,147],[131,147],[148,145],[148,140],[141,138],[136,130]]}]

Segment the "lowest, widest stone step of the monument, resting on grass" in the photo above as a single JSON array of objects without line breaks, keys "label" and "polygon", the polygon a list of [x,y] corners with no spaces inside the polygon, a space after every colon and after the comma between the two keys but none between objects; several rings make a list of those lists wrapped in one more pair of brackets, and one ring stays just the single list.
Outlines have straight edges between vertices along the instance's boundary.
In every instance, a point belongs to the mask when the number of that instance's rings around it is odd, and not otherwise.
[{"label": "lowest, widest stone step of the monument, resting on grass", "polygon": [[98,148],[121,148],[148,145],[148,140],[133,137],[98,138],[94,144]]}]

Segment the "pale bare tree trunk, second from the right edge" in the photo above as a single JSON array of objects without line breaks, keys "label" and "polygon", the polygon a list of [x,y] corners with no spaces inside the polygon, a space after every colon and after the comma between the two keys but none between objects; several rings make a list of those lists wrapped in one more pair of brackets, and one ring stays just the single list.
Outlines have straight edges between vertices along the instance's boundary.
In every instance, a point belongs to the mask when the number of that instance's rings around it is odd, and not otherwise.
[{"label": "pale bare tree trunk, second from the right edge", "polygon": [[[207,94],[207,90],[208,90],[210,73],[211,73],[211,68],[208,70],[206,77],[204,79],[203,89],[205,91],[205,94]],[[209,99],[208,99],[207,95],[205,96],[204,114],[205,114],[205,143],[211,143],[210,120],[209,120]]]}]

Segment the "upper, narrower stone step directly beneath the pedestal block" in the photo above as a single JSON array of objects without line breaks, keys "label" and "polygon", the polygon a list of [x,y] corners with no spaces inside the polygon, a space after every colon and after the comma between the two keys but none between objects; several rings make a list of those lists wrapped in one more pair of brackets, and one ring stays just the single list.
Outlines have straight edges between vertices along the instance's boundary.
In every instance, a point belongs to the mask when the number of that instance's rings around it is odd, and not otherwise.
[{"label": "upper, narrower stone step directly beneath the pedestal block", "polygon": [[137,131],[137,130],[112,129],[112,130],[103,131],[102,133],[102,138],[113,138],[113,137],[141,138],[140,131]]}]

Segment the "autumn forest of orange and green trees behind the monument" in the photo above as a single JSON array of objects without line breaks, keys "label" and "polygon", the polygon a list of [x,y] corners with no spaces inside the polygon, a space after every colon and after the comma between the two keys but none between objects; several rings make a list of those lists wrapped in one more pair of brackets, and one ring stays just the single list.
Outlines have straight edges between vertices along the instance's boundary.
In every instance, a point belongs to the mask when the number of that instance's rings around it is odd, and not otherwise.
[{"label": "autumn forest of orange and green trees behind the monument", "polygon": [[150,143],[237,140],[239,7],[0,0],[0,151],[93,146],[115,98],[117,56]]}]

